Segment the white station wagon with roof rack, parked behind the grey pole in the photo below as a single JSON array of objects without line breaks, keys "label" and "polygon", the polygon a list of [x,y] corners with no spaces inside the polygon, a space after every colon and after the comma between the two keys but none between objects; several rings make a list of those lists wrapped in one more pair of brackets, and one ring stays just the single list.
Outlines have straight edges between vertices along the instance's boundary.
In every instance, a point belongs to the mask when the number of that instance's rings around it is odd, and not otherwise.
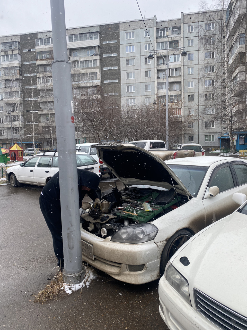
[{"label": "white station wagon with roof rack, parked behind the grey pole", "polygon": [[[91,171],[100,176],[99,164],[85,152],[76,152],[77,168]],[[44,186],[50,178],[58,172],[57,152],[43,152],[28,158],[20,165],[9,167],[6,171],[6,179],[12,187],[21,183],[37,184]]]}]

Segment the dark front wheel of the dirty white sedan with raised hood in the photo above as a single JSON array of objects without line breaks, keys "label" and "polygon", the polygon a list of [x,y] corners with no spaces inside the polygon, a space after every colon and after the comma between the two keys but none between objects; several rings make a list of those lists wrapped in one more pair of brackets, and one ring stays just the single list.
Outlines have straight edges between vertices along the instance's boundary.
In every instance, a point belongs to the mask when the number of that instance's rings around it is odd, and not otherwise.
[{"label": "dark front wheel of the dirty white sedan with raised hood", "polygon": [[160,275],[165,273],[166,264],[174,253],[192,236],[188,230],[181,229],[167,241],[160,257]]}]

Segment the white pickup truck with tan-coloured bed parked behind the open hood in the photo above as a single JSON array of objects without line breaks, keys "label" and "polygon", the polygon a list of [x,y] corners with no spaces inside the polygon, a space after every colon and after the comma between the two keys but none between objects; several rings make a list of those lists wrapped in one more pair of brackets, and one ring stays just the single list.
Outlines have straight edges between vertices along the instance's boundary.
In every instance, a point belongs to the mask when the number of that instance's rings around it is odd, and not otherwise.
[{"label": "white pickup truck with tan-coloured bed parked behind the open hood", "polygon": [[183,157],[194,157],[195,151],[193,149],[166,149],[166,144],[162,140],[141,140],[132,141],[129,144],[143,148],[150,151],[155,156],[161,158],[162,160],[183,158]]}]

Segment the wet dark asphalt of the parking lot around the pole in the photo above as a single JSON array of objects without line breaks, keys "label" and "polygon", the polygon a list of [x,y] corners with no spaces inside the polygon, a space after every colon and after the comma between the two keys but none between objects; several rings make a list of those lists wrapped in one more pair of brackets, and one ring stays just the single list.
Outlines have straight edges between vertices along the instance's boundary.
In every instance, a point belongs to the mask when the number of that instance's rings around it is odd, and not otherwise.
[{"label": "wet dark asphalt of the parking lot around the pole", "polygon": [[[102,191],[115,186],[105,177]],[[96,271],[82,291],[44,305],[33,302],[57,262],[39,208],[41,190],[0,185],[0,329],[168,329],[158,312],[158,281],[131,285]]]}]

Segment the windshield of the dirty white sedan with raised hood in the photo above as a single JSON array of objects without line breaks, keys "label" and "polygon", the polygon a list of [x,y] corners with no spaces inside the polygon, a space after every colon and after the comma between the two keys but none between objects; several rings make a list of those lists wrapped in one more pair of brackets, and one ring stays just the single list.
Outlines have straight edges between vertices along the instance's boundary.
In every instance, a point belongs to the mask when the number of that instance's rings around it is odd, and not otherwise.
[{"label": "windshield of the dirty white sedan with raised hood", "polygon": [[167,165],[185,185],[190,194],[193,197],[196,197],[205,177],[206,171],[208,170],[208,167],[175,164]]}]

